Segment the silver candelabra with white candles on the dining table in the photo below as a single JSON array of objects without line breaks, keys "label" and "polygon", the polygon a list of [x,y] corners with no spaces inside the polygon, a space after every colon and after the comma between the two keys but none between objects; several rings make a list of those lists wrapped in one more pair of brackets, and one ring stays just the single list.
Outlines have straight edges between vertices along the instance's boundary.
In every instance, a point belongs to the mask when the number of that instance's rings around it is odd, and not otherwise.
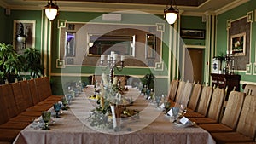
[{"label": "silver candelabra with white candles on the dining table", "polygon": [[120,66],[117,66],[117,58],[118,58],[118,54],[115,54],[113,51],[111,51],[110,55],[107,55],[107,64],[106,66],[104,66],[104,62],[105,62],[105,55],[101,55],[101,66],[102,66],[102,71],[106,71],[108,68],[109,70],[109,82],[110,84],[113,83],[113,72],[114,70],[118,70],[119,72],[121,72],[123,70],[123,68],[125,67],[124,63],[125,63],[125,56],[121,55],[121,63]]}]

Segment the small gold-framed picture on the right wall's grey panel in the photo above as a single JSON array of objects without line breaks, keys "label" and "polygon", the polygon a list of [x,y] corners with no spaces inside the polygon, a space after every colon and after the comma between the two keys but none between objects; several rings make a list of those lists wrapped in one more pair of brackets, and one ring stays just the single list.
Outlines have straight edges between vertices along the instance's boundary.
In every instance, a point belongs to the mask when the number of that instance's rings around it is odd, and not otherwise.
[{"label": "small gold-framed picture on the right wall's grey panel", "polygon": [[230,37],[231,54],[234,56],[246,54],[246,32]]}]

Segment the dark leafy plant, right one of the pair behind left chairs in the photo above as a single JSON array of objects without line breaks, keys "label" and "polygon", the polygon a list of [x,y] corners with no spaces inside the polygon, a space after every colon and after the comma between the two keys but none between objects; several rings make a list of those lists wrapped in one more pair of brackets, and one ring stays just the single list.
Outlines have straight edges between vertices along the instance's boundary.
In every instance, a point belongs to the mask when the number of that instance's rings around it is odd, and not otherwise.
[{"label": "dark leafy plant, right one of the pair behind left chairs", "polygon": [[35,78],[43,74],[44,66],[41,64],[41,54],[38,49],[26,48],[24,51],[26,60],[25,72],[30,72],[30,76]]}]

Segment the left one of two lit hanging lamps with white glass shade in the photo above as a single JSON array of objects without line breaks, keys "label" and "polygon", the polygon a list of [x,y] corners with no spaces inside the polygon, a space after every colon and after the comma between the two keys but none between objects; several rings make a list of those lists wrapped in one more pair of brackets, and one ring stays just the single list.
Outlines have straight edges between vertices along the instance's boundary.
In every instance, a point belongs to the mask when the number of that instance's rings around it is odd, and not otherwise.
[{"label": "left one of two lit hanging lamps with white glass shade", "polygon": [[49,20],[54,20],[56,15],[58,14],[59,7],[55,1],[55,3],[52,3],[52,0],[50,0],[45,8],[45,14]]}]

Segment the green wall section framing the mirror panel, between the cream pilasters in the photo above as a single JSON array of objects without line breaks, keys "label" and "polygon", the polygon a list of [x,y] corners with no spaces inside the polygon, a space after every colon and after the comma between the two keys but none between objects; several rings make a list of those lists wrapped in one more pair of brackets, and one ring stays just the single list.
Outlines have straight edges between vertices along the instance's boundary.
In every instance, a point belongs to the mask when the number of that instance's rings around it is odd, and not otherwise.
[{"label": "green wall section framing the mirror panel, between the cream pilasters", "polygon": [[[79,79],[83,79],[83,81],[88,81],[87,76],[74,76],[76,73],[81,73],[83,75],[92,75],[95,73],[96,66],[66,66],[65,68],[56,68],[56,59],[59,58],[59,35],[60,29],[58,28],[58,20],[67,20],[67,22],[94,22],[94,23],[117,23],[117,24],[131,24],[131,25],[155,25],[156,23],[163,23],[165,22],[161,16],[155,16],[151,14],[122,14],[121,22],[106,22],[102,21],[102,14],[103,13],[89,13],[89,12],[64,12],[61,11],[60,14],[57,16],[52,23],[52,49],[51,49],[51,73],[54,75],[51,77],[53,79],[53,91],[56,95],[60,95],[63,93],[62,89],[65,89],[65,84],[70,81],[79,81]],[[168,90],[168,63],[169,63],[169,49],[167,44],[169,43],[168,40],[168,32],[169,32],[169,25],[165,26],[165,32],[163,33],[163,39],[166,43],[163,43],[163,61],[165,62],[165,71],[154,71],[154,69],[149,68],[132,68],[132,67],[125,67],[122,72],[115,72],[115,74],[120,75],[139,75],[140,78],[143,77],[146,73],[150,71],[154,72],[154,74],[158,77],[165,77],[166,78],[157,78],[156,84],[160,86],[158,89],[158,93],[160,94],[167,94]],[[62,76],[69,75],[69,76]],[[58,82],[58,83],[55,83]],[[64,84],[61,87],[60,84]]]}]

